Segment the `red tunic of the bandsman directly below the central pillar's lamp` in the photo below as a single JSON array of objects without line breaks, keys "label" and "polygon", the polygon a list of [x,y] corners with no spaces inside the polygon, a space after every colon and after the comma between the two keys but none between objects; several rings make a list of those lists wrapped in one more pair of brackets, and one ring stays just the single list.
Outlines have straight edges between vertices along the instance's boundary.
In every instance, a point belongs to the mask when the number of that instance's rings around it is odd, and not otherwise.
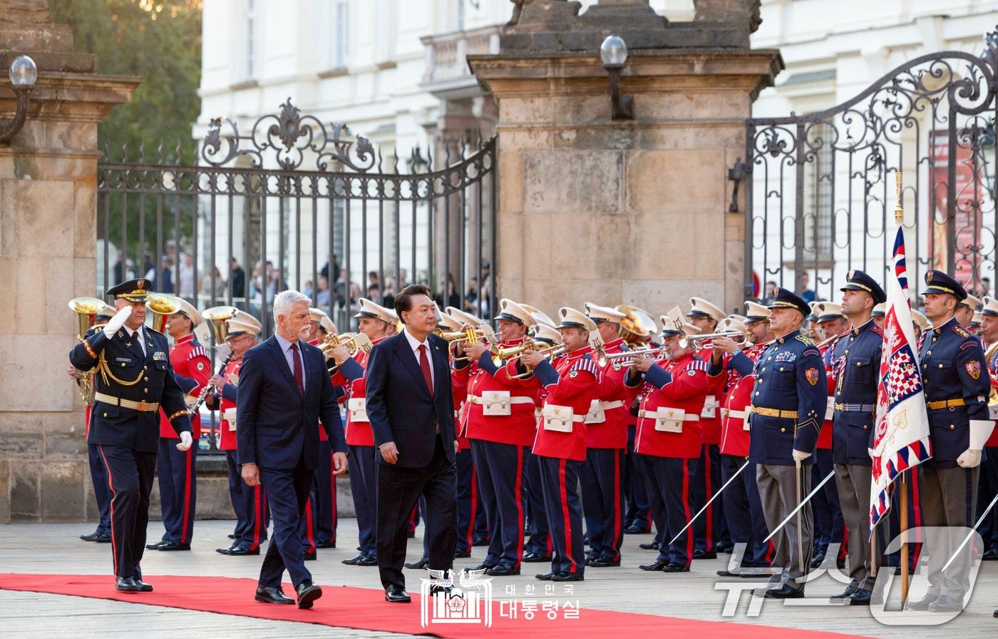
[{"label": "red tunic of the bandsman directly below the central pillar's lamp", "polygon": [[[604,352],[612,354],[624,351],[624,339],[618,337],[603,346]],[[608,361],[600,368],[596,386],[596,396],[586,415],[587,448],[626,448],[627,426],[631,419],[631,402],[638,394],[637,387],[624,384],[630,368],[625,359]]]}]

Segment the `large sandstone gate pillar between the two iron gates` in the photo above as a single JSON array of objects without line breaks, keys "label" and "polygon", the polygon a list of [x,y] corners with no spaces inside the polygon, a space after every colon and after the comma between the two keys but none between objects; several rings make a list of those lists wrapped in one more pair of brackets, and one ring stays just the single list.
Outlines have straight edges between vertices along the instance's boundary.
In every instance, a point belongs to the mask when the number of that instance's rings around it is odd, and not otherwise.
[{"label": "large sandstone gate pillar between the two iron gates", "polygon": [[[694,295],[742,308],[728,170],[779,52],[749,49],[745,22],[668,23],[647,2],[578,11],[535,0],[498,55],[468,59],[499,104],[500,295],[549,313],[592,301],[659,315]],[[599,55],[611,32],[629,45],[633,121],[611,119]]]}]

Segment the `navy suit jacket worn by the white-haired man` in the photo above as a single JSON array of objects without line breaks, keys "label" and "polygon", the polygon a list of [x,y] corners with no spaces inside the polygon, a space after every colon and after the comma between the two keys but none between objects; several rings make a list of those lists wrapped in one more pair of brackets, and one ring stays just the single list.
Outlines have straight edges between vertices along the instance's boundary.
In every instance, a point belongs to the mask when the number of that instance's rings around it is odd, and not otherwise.
[{"label": "navy suit jacket worn by the white-haired man", "polygon": [[300,339],[298,345],[304,359],[303,397],[275,336],[243,355],[236,404],[241,464],[293,468],[303,458],[306,468],[317,467],[319,420],[332,449],[346,451],[339,403],[322,351]]}]

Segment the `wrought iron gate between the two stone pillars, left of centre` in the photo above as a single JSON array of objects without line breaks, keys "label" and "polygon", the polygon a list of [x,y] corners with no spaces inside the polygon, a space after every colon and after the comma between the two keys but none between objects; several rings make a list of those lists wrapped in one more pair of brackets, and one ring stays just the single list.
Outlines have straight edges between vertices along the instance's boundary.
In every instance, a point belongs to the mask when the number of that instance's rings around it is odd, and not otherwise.
[{"label": "wrought iron gate between the two stone pillars, left of centre", "polygon": [[[340,330],[360,297],[391,306],[423,283],[441,307],[495,308],[495,139],[462,137],[404,161],[290,100],[240,133],[212,122],[200,166],[110,154],[98,166],[98,295],[149,275],[199,309],[233,305],[272,326],[270,302],[309,291]],[[179,153],[177,154],[179,155]],[[444,166],[434,169],[434,155]],[[239,267],[242,270],[237,270]],[[169,271],[169,274],[168,274]],[[169,277],[168,277],[169,276]],[[324,283],[324,284],[323,284]],[[310,287],[308,286],[310,285]],[[375,288],[376,287],[376,288]]]}]

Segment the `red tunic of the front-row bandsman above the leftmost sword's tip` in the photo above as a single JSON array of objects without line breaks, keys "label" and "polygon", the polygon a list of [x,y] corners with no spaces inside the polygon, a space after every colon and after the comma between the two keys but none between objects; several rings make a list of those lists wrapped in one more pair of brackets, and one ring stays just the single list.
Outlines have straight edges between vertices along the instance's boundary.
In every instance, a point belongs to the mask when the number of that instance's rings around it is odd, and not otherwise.
[{"label": "red tunic of the front-row bandsman above the leftmost sword's tip", "polygon": [[[660,359],[656,364],[672,373],[672,380],[662,388],[645,383],[647,392],[638,413],[635,450],[657,457],[699,457],[703,444],[700,413],[713,383],[707,374],[708,363],[689,352],[677,359]],[[682,411],[683,420],[662,423],[657,418],[659,408],[676,409],[677,419]]]}]

